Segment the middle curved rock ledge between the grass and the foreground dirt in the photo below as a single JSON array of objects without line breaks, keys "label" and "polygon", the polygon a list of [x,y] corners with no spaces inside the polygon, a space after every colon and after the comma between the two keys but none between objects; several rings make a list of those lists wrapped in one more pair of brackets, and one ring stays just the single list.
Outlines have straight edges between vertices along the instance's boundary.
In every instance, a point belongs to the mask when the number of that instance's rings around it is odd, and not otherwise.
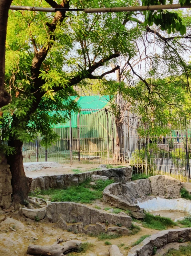
[{"label": "middle curved rock ledge between the grass and the foreground dirt", "polygon": [[131,217],[104,212],[73,202],[54,202],[47,206],[45,220],[74,233],[123,234],[131,232]]}]

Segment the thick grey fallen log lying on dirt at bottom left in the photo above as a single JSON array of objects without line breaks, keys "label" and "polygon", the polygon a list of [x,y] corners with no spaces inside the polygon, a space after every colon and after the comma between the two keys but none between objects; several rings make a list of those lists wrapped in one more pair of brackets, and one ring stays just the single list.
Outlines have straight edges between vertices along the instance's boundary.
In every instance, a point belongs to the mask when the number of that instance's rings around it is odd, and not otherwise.
[{"label": "thick grey fallen log lying on dirt at bottom left", "polygon": [[64,242],[63,245],[58,245],[57,242],[50,246],[29,245],[27,253],[42,256],[63,256],[70,251],[80,249],[81,244],[81,241],[70,240]]}]

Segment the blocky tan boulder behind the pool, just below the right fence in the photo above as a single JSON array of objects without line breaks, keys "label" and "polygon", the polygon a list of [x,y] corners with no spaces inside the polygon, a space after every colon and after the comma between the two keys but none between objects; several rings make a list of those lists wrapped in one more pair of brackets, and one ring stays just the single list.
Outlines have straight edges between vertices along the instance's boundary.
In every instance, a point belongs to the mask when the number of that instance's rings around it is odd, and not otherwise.
[{"label": "blocky tan boulder behind the pool, just below the right fence", "polygon": [[156,175],[149,177],[151,193],[154,196],[164,196],[165,198],[179,198],[181,182],[166,175]]}]

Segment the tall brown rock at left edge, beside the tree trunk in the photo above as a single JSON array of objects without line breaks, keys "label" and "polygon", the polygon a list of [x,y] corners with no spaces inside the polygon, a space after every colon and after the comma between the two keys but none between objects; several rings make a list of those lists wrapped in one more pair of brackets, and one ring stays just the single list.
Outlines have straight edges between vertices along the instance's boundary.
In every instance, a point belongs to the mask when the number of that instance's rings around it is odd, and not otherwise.
[{"label": "tall brown rock at left edge, beside the tree trunk", "polygon": [[0,155],[0,207],[9,209],[11,206],[11,171],[5,156]]}]

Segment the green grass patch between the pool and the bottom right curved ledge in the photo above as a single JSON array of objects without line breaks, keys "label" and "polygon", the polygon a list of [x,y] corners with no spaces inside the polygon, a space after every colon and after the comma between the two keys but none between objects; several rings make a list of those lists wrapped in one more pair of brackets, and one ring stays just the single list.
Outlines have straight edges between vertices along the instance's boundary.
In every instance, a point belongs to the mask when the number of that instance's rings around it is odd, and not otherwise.
[{"label": "green grass patch between the pool and the bottom right curved ledge", "polygon": [[154,216],[146,213],[143,219],[143,227],[164,230],[173,226],[177,226],[170,218]]}]

